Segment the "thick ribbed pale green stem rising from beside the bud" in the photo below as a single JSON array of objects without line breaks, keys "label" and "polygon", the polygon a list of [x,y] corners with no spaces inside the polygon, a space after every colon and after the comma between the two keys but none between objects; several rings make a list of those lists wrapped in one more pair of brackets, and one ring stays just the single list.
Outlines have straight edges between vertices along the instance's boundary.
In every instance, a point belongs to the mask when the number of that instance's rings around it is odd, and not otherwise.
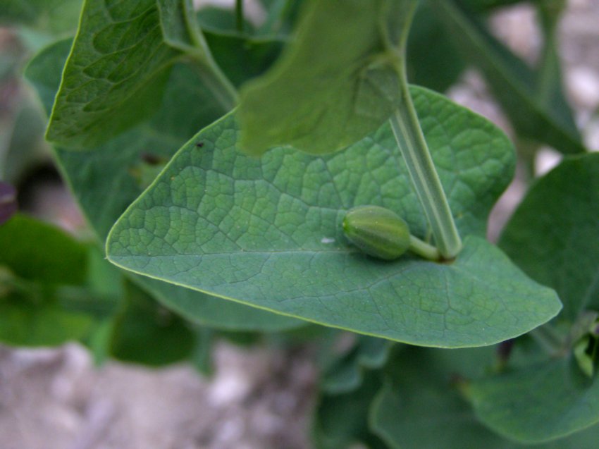
[{"label": "thick ribbed pale green stem rising from beside the bud", "polygon": [[443,191],[443,186],[428,151],[428,145],[420,128],[416,109],[409,94],[405,68],[405,55],[409,25],[414,16],[416,3],[412,5],[406,26],[398,45],[399,63],[397,73],[400,75],[400,105],[389,119],[397,146],[404,157],[405,164],[416,190],[420,204],[431,226],[435,244],[445,259],[453,259],[462,249],[462,240],[455,226],[453,216]]}]

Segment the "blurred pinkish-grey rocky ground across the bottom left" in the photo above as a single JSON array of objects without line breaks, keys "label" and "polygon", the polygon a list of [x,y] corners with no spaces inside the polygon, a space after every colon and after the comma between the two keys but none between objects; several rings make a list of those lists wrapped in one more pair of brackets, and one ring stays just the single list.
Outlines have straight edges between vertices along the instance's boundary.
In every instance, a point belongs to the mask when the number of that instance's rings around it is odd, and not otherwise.
[{"label": "blurred pinkish-grey rocky ground across the bottom left", "polygon": [[79,345],[0,351],[1,449],[304,449],[315,371],[302,353],[216,347],[187,366],[94,369]]}]

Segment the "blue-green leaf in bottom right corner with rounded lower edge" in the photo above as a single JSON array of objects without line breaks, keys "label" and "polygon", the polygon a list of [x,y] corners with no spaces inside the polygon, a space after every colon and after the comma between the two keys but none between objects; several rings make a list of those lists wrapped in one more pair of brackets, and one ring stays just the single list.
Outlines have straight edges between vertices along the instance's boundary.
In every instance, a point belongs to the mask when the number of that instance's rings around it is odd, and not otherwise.
[{"label": "blue-green leaf in bottom right corner with rounded lower edge", "polygon": [[521,443],[561,438],[599,422],[599,382],[569,358],[473,382],[467,387],[476,417]]}]

